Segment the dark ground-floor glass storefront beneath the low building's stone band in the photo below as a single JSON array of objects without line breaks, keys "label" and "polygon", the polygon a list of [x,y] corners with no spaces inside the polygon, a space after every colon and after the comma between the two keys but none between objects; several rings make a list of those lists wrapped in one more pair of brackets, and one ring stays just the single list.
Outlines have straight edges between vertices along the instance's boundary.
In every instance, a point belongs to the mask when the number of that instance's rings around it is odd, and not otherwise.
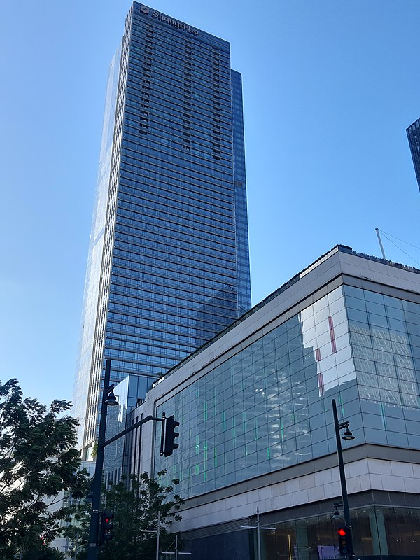
[{"label": "dark ground-floor glass storefront beneath the low building's stone band", "polygon": [[[331,514],[273,522],[260,518],[261,560],[335,560],[339,556],[337,531],[344,521]],[[250,520],[255,526],[255,517]],[[351,510],[356,560],[420,559],[420,509],[360,507]],[[255,530],[219,532],[199,538],[183,535],[185,549],[200,560],[258,560]]]}]

